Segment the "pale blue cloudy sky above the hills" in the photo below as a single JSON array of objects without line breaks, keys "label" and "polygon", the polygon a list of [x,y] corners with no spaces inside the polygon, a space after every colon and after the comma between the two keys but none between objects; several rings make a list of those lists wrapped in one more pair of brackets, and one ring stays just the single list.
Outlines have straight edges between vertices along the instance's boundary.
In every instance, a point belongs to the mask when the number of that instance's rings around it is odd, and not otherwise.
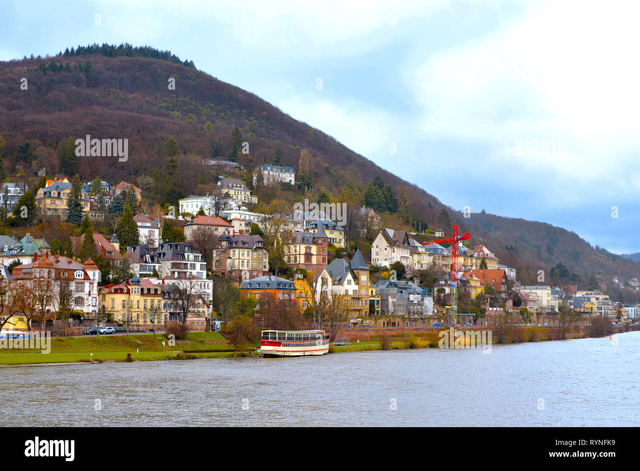
[{"label": "pale blue cloudy sky above the hills", "polygon": [[455,210],[539,220],[612,252],[640,251],[640,3],[0,6],[0,60],[93,42],[168,49]]}]

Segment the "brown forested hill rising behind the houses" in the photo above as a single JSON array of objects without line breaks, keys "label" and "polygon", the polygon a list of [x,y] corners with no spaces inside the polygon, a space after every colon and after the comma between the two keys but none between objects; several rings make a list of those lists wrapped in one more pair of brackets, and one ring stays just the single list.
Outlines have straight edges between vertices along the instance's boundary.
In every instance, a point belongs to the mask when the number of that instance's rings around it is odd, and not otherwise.
[{"label": "brown forested hill rising behind the houses", "polygon": [[[211,190],[217,174],[203,158],[237,159],[248,170],[240,176],[248,185],[255,166],[280,162],[294,167],[304,185],[299,194],[259,194],[261,204],[272,198],[339,199],[349,190],[349,201],[374,206],[395,229],[442,227],[451,233],[458,222],[472,233],[472,243],[483,242],[504,263],[521,267],[524,283],[535,282],[540,269],[549,274],[558,263],[564,283],[586,283],[591,272],[607,285],[614,275],[625,281],[640,275],[636,262],[591,247],[559,227],[479,213],[464,219],[320,129],[168,51],[89,45],[53,57],[0,62],[0,95],[5,178],[35,177],[45,169],[48,176],[78,173],[84,181],[124,179],[142,185],[148,201],[164,204]],[[69,138],[86,135],[127,138],[129,159],[75,158]],[[179,147],[173,153],[164,146],[170,137]],[[248,154],[238,152],[239,140],[248,142]],[[303,149],[308,160],[301,160]],[[375,185],[367,186],[372,181]],[[447,195],[440,197],[447,201]]]}]

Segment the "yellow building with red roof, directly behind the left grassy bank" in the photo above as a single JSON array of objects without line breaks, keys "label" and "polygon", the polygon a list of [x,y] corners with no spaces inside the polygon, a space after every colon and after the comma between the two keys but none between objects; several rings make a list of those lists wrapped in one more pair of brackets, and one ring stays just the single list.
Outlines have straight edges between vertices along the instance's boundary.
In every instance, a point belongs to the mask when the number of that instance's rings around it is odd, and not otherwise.
[{"label": "yellow building with red roof, directly behind the left grassy bank", "polygon": [[100,310],[127,324],[163,324],[163,294],[147,279],[133,277],[129,283],[106,285],[99,292]]}]

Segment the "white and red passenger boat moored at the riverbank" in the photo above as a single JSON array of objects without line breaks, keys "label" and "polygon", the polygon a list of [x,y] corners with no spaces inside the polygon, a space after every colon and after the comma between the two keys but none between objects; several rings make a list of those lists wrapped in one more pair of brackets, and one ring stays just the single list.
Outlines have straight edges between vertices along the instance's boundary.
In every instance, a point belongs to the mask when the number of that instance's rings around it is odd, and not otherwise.
[{"label": "white and red passenger boat moored at the riverbank", "polygon": [[329,335],[324,331],[262,331],[263,356],[324,355],[329,352]]}]

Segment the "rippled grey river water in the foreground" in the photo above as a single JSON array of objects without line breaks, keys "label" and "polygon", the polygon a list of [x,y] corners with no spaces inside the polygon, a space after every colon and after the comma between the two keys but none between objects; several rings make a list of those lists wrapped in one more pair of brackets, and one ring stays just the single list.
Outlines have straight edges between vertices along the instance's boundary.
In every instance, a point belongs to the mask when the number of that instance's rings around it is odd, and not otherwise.
[{"label": "rippled grey river water in the foreground", "polygon": [[0,399],[1,426],[640,426],[640,331],[488,354],[2,368]]}]

